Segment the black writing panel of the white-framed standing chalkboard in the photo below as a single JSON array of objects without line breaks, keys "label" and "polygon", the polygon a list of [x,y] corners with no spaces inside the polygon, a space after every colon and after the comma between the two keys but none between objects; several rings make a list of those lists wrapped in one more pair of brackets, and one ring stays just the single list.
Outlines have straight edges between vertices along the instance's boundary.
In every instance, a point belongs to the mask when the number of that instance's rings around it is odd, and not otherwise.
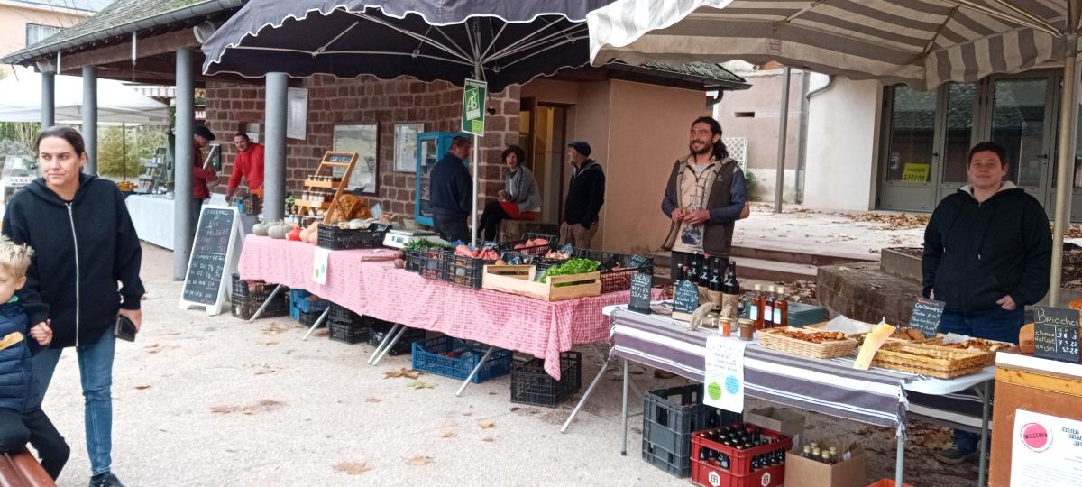
[{"label": "black writing panel of the white-framed standing chalkboard", "polygon": [[236,214],[232,208],[202,209],[184,278],[184,301],[207,305],[217,302]]}]

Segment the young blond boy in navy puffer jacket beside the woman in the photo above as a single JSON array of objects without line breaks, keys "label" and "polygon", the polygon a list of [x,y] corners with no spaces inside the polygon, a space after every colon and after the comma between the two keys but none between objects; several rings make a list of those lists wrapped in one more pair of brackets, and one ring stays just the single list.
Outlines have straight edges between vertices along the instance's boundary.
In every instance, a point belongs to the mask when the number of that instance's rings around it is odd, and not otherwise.
[{"label": "young blond boy in navy puffer jacket beside the woman", "polygon": [[29,442],[55,481],[71,449],[35,404],[38,387],[30,366],[30,356],[53,340],[53,330],[47,325],[29,328],[15,297],[26,284],[32,256],[29,247],[0,236],[0,452],[18,451]]}]

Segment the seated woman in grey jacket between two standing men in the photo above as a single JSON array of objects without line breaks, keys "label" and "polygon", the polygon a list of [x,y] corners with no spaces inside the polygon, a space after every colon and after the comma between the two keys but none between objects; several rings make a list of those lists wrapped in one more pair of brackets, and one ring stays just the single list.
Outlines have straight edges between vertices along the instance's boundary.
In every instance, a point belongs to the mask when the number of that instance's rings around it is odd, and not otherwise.
[{"label": "seated woman in grey jacket between two standing men", "polygon": [[526,153],[517,145],[510,145],[503,150],[503,162],[507,164],[504,175],[504,188],[500,192],[499,201],[489,201],[480,214],[483,238],[496,240],[503,219],[535,220],[541,211],[541,195],[533,173],[523,166]]}]

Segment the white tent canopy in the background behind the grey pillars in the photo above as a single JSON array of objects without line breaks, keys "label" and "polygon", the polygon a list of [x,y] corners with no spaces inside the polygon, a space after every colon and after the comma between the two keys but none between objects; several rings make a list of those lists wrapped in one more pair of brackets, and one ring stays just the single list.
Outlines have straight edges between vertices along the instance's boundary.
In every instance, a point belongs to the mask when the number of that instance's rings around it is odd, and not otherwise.
[{"label": "white tent canopy in the background behind the grey pillars", "polygon": [[[82,123],[82,78],[56,77],[56,122]],[[120,81],[97,80],[97,121],[105,124],[168,126],[169,106]],[[0,80],[0,121],[41,120],[41,75],[25,68]]]}]

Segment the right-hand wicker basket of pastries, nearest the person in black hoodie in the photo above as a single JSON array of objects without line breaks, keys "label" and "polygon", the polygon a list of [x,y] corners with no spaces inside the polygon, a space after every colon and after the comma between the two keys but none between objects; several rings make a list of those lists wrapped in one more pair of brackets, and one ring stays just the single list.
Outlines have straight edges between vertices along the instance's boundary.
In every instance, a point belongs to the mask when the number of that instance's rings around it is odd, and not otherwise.
[{"label": "right-hand wicker basket of pastries, nearest the person in black hoodie", "polygon": [[884,369],[953,379],[979,372],[995,360],[995,353],[950,348],[926,343],[884,343],[872,365]]}]

